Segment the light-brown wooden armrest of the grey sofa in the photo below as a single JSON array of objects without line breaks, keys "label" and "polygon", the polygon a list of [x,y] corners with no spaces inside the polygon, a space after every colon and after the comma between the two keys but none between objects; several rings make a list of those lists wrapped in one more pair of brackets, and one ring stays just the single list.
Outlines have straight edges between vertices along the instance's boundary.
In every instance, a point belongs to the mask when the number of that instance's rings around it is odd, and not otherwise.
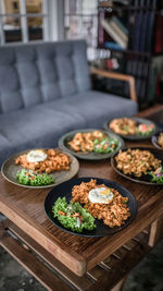
[{"label": "light-brown wooden armrest of the grey sofa", "polygon": [[130,99],[135,102],[137,102],[137,94],[136,94],[136,86],[135,86],[135,77],[131,75],[125,75],[121,73],[115,72],[109,72],[101,69],[92,68],[90,66],[90,73],[91,74],[98,74],[100,76],[110,77],[110,78],[116,78],[121,81],[128,82],[129,85],[129,96]]}]

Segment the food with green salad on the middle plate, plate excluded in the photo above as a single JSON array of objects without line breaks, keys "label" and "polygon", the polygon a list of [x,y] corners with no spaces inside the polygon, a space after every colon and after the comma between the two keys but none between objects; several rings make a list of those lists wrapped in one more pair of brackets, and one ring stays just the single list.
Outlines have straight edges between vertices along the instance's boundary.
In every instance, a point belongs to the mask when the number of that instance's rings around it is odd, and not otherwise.
[{"label": "food with green salad on the middle plate, plate excluded", "polygon": [[99,153],[106,154],[112,153],[117,146],[117,140],[108,137],[101,131],[92,132],[78,132],[73,140],[68,142],[68,145],[75,151],[83,153]]}]

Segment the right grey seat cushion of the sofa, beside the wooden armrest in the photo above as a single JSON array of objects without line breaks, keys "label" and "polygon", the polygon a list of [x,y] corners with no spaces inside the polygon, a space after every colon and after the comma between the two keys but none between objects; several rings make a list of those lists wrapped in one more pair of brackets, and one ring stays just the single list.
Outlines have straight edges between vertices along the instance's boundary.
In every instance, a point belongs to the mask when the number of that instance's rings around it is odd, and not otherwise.
[{"label": "right grey seat cushion of the sofa, beside the wooden armrest", "polygon": [[87,90],[65,99],[47,102],[46,107],[60,112],[78,113],[85,119],[86,128],[102,128],[108,120],[130,117],[138,110],[137,104],[130,99],[96,90]]}]

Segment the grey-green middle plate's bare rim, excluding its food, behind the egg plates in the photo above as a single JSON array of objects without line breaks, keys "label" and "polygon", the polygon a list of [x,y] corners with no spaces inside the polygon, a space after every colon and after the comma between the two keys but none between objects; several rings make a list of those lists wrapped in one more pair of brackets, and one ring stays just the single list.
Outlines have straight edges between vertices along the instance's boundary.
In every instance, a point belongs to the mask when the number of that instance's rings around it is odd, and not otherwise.
[{"label": "grey-green middle plate's bare rim, excluding its food, behind the egg plates", "polygon": [[[117,147],[115,148],[115,150],[113,153],[108,153],[108,154],[98,154],[98,153],[76,153],[75,150],[73,150],[71,148],[71,146],[68,146],[68,142],[73,140],[74,135],[78,132],[92,132],[92,131],[100,131],[102,133],[104,133],[105,135],[108,135],[111,138],[115,138],[118,142]],[[101,160],[101,159],[106,159],[112,157],[115,153],[117,153],[121,148],[124,147],[124,141],[115,133],[109,133],[106,131],[102,131],[102,130],[97,130],[97,129],[87,129],[87,130],[77,130],[77,131],[73,131],[73,132],[68,132],[66,134],[64,134],[60,140],[59,140],[59,147],[62,148],[63,150],[68,151],[70,154],[72,154],[73,156],[79,158],[79,159],[86,159],[86,160]]]}]

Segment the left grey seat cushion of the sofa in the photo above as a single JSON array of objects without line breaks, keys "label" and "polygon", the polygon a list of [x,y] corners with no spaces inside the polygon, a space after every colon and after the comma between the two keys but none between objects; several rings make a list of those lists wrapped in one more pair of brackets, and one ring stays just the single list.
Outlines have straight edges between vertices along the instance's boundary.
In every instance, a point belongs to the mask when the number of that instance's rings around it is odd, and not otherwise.
[{"label": "left grey seat cushion of the sofa", "polygon": [[57,111],[45,105],[0,116],[0,165],[21,150],[55,147],[66,132],[85,128],[78,113]]}]

